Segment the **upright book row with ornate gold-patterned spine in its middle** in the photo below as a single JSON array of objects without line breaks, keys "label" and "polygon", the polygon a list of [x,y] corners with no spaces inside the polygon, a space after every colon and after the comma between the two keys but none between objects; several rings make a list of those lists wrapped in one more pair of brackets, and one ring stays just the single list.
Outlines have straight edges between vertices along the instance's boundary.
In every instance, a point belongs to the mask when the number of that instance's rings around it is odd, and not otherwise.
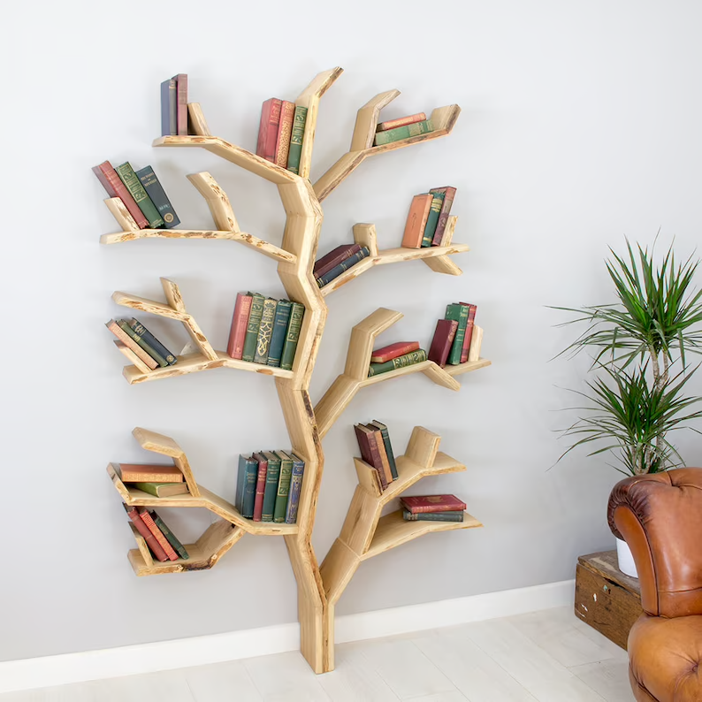
[{"label": "upright book row with ornate gold-patterned spine in its middle", "polygon": [[304,305],[238,293],[226,353],[240,361],[293,370]]}]

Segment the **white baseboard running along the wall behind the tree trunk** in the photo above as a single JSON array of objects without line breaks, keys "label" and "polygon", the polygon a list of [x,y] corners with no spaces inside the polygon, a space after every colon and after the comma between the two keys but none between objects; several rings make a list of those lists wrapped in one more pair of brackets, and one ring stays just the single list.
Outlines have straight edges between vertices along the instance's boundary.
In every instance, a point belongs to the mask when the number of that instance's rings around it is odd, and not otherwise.
[{"label": "white baseboard running along the wall behind the tree trunk", "polygon": [[[388,637],[539,609],[572,606],[574,588],[574,580],[565,580],[518,590],[425,602],[422,605],[347,614],[337,617],[336,642],[342,644],[364,638]],[[298,624],[281,624],[103,651],[8,660],[0,662],[0,693],[296,651],[299,637]]]}]

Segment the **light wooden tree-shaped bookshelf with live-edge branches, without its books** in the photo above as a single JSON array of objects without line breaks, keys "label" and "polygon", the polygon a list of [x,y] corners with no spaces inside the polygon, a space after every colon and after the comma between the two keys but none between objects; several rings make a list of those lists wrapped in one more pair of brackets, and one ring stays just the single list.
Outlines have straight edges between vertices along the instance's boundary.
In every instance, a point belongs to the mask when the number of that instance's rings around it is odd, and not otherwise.
[{"label": "light wooden tree-shaped bookshelf with live-edge branches, without its books", "polygon": [[177,320],[185,325],[197,351],[179,356],[175,365],[150,370],[128,348],[118,343],[119,350],[133,363],[124,370],[127,381],[146,382],[161,378],[172,378],[184,373],[194,373],[212,368],[249,370],[275,376],[279,401],[286,420],[286,428],[295,454],[305,461],[305,474],[301,490],[300,506],[296,524],[262,523],[244,518],[227,500],[210,492],[195,481],[185,452],[169,437],[141,428],[134,429],[134,436],[141,446],[151,452],[170,456],[182,470],[189,487],[189,494],[167,498],[156,498],[146,492],[126,486],[119,478],[113,464],[108,466],[115,488],[128,505],[138,507],[206,507],[217,515],[217,521],[202,534],[193,545],[187,545],[187,560],[160,563],[154,561],[149,548],[134,530],[137,548],[129,553],[129,560],[139,576],[161,573],[182,573],[188,570],[211,568],[244,534],[283,536],[293,566],[298,586],[298,614],[301,629],[301,652],[317,673],[334,667],[334,607],[354,575],[355,569],[372,556],[400,546],[429,531],[465,529],[481,526],[476,519],[465,515],[462,523],[405,522],[399,512],[382,516],[383,508],[416,481],[425,476],[438,475],[465,469],[450,456],[438,452],[439,436],[422,427],[416,427],[409,441],[407,452],[398,458],[399,478],[385,492],[373,481],[373,470],[360,459],[355,459],[358,487],[349,507],[346,523],[340,537],[334,542],[321,566],[311,544],[312,529],[317,513],[317,497],[324,468],[322,438],[353,400],[362,387],[408,373],[423,372],[438,385],[458,390],[456,376],[477,370],[490,364],[479,357],[482,330],[475,328],[469,349],[469,361],[461,365],[440,368],[436,363],[425,361],[407,368],[394,370],[376,377],[368,377],[368,367],[373,343],[378,334],[384,332],[402,315],[391,309],[378,309],[356,324],[351,334],[347,362],[344,372],[337,378],[317,407],[309,399],[309,381],[317,361],[319,341],[324,332],[327,306],[324,298],[361,275],[374,265],[399,263],[421,259],[432,271],[460,275],[461,269],[449,258],[453,254],[468,251],[452,239],[456,217],[450,217],[446,226],[444,245],[430,248],[393,248],[378,250],[375,226],[358,224],[354,227],[354,238],[367,246],[370,256],[320,289],[312,275],[317,255],[317,243],[322,226],[323,212],[320,203],[347,178],[365,158],[376,154],[402,149],[420,141],[431,141],[450,134],[460,113],[458,105],[440,107],[431,113],[434,131],[384,146],[373,146],[373,137],[379,121],[380,110],[399,95],[391,90],[377,95],[358,111],[351,148],[332,165],[314,186],[309,182],[309,166],[312,159],[317,110],[324,92],[340,76],[341,69],[319,73],[306,88],[296,104],[308,108],[304,141],[301,154],[300,174],[296,175],[246,149],[240,149],[223,139],[212,136],[207,128],[202,110],[197,103],[188,105],[192,125],[196,134],[188,136],[164,136],[154,141],[156,147],[199,147],[230,161],[249,172],[278,186],[280,199],[286,211],[286,226],[281,247],[261,240],[256,236],[240,232],[232,206],[225,192],[209,173],[187,176],[210,206],[217,229],[214,230],[161,230],[139,229],[118,198],[105,201],[121,227],[119,233],[105,234],[103,244],[116,244],[145,237],[166,239],[226,239],[238,241],[254,248],[264,256],[278,261],[278,274],[287,296],[301,302],[305,307],[293,370],[281,370],[253,362],[242,362],[222,351],[216,351],[187,312],[178,286],[162,279],[165,301],[146,300],[135,295],[117,292],[114,301],[132,309]]}]

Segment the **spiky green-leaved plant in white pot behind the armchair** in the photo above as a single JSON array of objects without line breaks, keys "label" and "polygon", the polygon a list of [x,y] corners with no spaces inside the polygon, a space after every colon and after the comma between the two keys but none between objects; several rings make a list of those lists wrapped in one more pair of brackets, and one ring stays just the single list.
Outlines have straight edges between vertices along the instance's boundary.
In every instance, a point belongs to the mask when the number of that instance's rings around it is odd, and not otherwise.
[{"label": "spiky green-leaved plant in white pot behind the armchair", "polygon": [[[683,464],[670,434],[692,429],[702,411],[700,397],[686,394],[694,370],[689,353],[702,353],[702,292],[692,284],[698,260],[676,263],[672,245],[659,265],[653,251],[627,241],[628,256],[612,259],[607,271],[616,301],[605,305],[561,309],[576,317],[560,324],[584,325],[584,332],[562,354],[590,352],[588,389],[575,423],[561,433],[572,439],[561,458],[576,447],[589,456],[614,454],[625,475],[656,473]],[[700,433],[698,431],[698,433]],[[617,540],[620,569],[636,576],[633,559]]]}]

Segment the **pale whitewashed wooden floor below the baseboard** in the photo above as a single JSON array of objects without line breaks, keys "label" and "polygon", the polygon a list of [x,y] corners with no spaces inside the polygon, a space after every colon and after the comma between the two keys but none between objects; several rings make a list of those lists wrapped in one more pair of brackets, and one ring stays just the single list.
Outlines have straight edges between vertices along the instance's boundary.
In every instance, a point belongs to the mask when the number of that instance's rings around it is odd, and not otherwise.
[{"label": "pale whitewashed wooden floor below the baseboard", "polygon": [[0,702],[631,702],[627,656],[570,607],[337,648],[0,695]]}]

